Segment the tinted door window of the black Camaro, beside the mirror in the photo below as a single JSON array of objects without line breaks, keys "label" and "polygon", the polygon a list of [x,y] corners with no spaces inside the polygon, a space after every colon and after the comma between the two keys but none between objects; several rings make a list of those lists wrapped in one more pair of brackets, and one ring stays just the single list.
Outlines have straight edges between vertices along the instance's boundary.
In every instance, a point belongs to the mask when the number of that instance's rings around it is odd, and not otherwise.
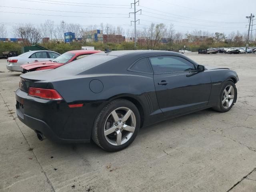
[{"label": "tinted door window of the black Camaro, beside the mirror", "polygon": [[179,56],[150,57],[154,73],[171,73],[196,70],[194,64]]}]

